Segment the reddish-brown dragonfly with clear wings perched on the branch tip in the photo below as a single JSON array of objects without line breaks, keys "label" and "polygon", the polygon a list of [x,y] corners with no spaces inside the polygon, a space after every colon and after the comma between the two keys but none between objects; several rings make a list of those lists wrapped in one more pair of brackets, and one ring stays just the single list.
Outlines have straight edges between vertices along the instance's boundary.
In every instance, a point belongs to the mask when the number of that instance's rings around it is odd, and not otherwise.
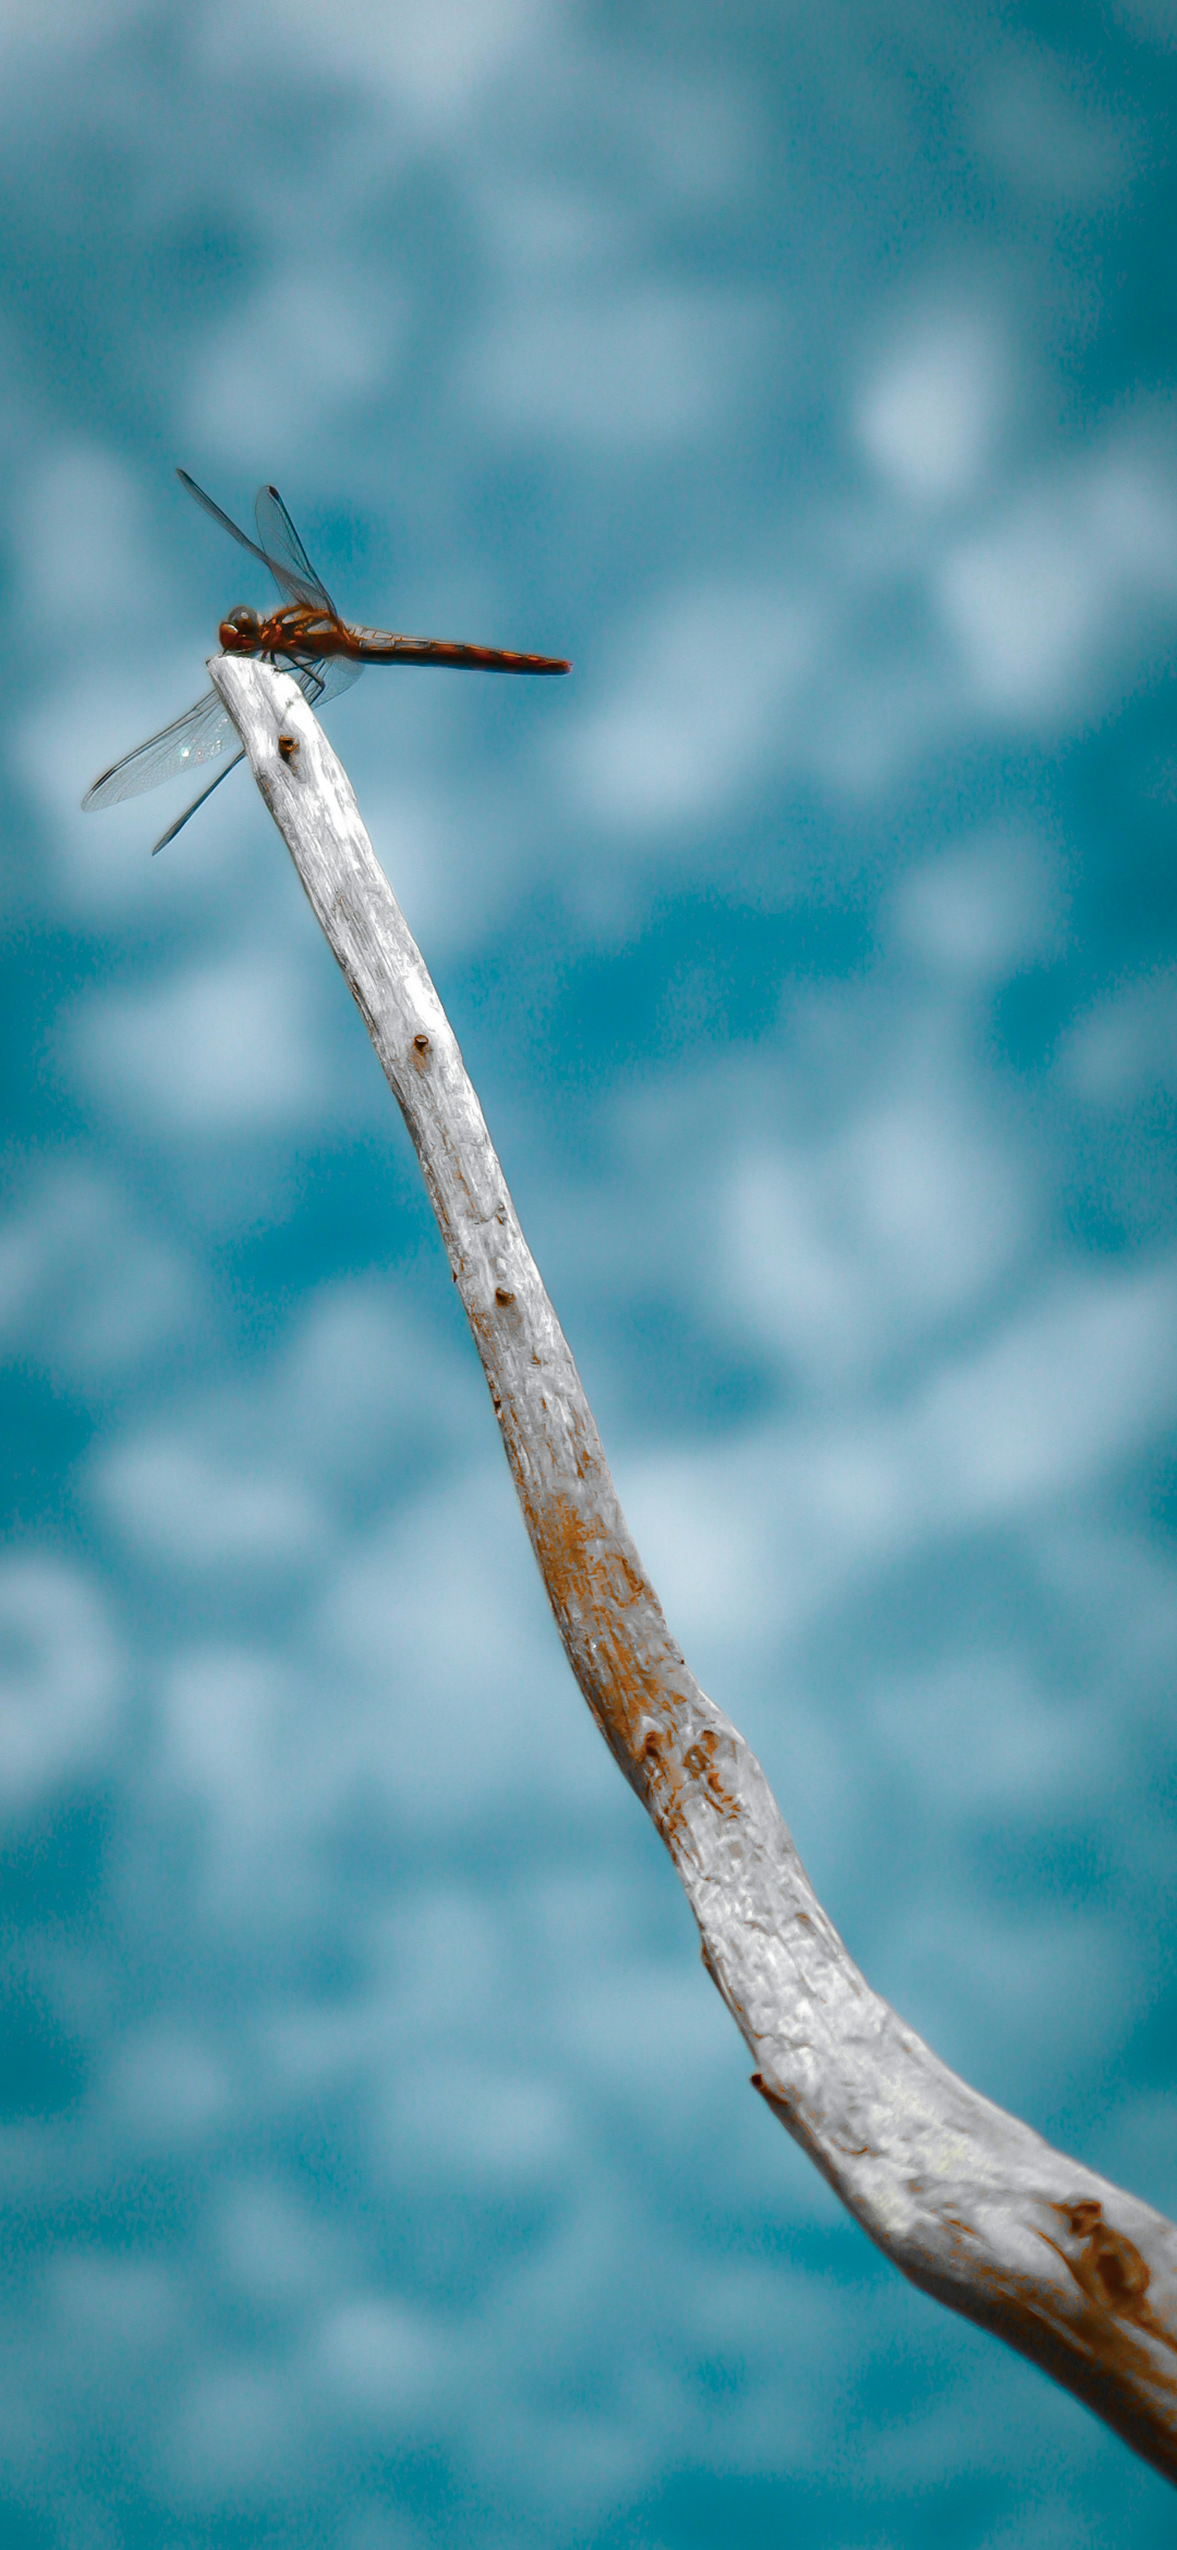
[{"label": "reddish-brown dragonfly with clear wings perched on the branch tip", "polygon": [[[489,645],[453,645],[446,638],[397,638],[392,630],[367,630],[352,627],[339,617],[331,594],[321,576],[316,576],[311,558],[290,523],[290,515],[278,495],[278,487],[260,487],[255,497],[255,523],[257,541],[250,541],[237,523],[214,505],[204,487],[186,469],[176,469],[176,477],[196,500],[211,520],[229,533],[239,548],[247,548],[252,558],[270,571],[283,594],[283,607],[270,612],[250,609],[245,602],[237,604],[222,620],[219,643],[224,655],[262,655],[265,663],[283,663],[293,673],[303,699],[313,709],[324,701],[336,699],[339,691],[349,691],[359,681],[367,663],[441,663],[459,673],[571,673],[571,663],[563,655],[512,655],[504,648]],[[222,760],[224,750],[229,760]],[[176,824],[155,841],[166,849],[168,841],[183,831],[186,821],[211,798],[211,790],[229,778],[229,770],[245,760],[245,745],[237,737],[237,727],[217,696],[217,691],[204,691],[204,696],[176,717],[171,727],[160,727],[150,734],[145,745],[135,752],[125,752],[120,762],[102,770],[92,788],[87,788],[82,806],[94,811],[99,806],[120,806],[122,798],[143,796],[145,788],[160,788],[163,780],[173,780],[186,770],[201,770],[206,762],[219,762],[214,778],[206,788],[183,808]]]}]

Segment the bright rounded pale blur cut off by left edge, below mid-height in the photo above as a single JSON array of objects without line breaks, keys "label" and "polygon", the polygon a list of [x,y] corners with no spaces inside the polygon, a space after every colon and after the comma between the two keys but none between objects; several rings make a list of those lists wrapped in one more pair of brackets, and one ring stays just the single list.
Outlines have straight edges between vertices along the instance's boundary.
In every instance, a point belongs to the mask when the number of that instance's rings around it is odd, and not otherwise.
[{"label": "bright rounded pale blur cut off by left edge, below mid-height", "polygon": [[0,1805],[20,1810],[102,1757],[120,1650],[94,1586],[56,1558],[0,1558]]}]

